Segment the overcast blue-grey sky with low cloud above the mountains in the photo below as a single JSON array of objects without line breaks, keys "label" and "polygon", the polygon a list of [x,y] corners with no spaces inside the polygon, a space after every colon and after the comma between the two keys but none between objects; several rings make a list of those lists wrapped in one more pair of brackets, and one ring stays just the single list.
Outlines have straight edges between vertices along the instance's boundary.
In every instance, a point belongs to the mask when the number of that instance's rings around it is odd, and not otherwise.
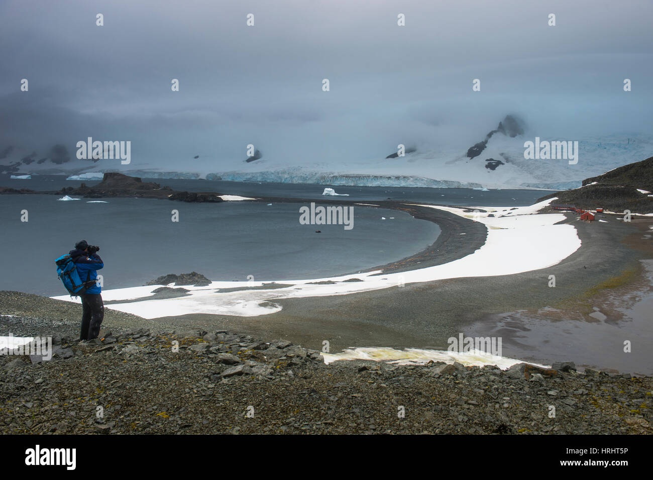
[{"label": "overcast blue-grey sky with low cloud above the mountains", "polygon": [[326,162],[471,146],[508,113],[533,136],[651,133],[652,18],[650,0],[3,0],[0,147],[131,140],[180,168],[249,143]]}]

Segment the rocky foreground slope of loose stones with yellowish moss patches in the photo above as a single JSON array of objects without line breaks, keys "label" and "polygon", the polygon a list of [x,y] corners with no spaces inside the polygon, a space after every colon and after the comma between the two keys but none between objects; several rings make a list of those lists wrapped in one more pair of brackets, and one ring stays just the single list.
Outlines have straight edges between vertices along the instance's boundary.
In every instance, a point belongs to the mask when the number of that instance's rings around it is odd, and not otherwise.
[{"label": "rocky foreground slope of loose stones with yellowish moss patches", "polygon": [[49,361],[0,355],[0,433],[653,433],[652,378],[579,373],[568,362],[505,372],[325,365],[286,340],[226,331],[136,328],[101,338],[55,332]]}]

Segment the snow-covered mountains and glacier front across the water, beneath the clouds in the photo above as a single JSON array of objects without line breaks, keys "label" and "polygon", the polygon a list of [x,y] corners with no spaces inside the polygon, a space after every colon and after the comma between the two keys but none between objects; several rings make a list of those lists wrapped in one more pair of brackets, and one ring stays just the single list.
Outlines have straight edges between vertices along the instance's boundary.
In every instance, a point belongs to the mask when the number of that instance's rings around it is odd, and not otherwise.
[{"label": "snow-covered mountains and glacier front across the water, beneath the clouds", "polygon": [[[347,158],[330,162],[290,161],[274,153],[257,151],[257,158],[179,159],[177,168],[161,167],[135,158],[129,165],[115,159],[76,159],[62,146],[51,152],[21,151],[0,146],[0,173],[13,175],[65,174],[80,180],[101,178],[103,172],[122,172],[142,178],[206,178],[257,182],[311,183],[324,185],[370,185],[409,187],[486,187],[571,189],[584,178],[641,161],[653,154],[653,135],[602,135],[585,138],[550,138],[539,142],[578,142],[578,161],[526,159],[524,142],[535,133],[514,116],[506,116],[485,138],[468,148],[456,146],[406,146],[405,155]],[[191,161],[192,160],[192,161]]]}]

